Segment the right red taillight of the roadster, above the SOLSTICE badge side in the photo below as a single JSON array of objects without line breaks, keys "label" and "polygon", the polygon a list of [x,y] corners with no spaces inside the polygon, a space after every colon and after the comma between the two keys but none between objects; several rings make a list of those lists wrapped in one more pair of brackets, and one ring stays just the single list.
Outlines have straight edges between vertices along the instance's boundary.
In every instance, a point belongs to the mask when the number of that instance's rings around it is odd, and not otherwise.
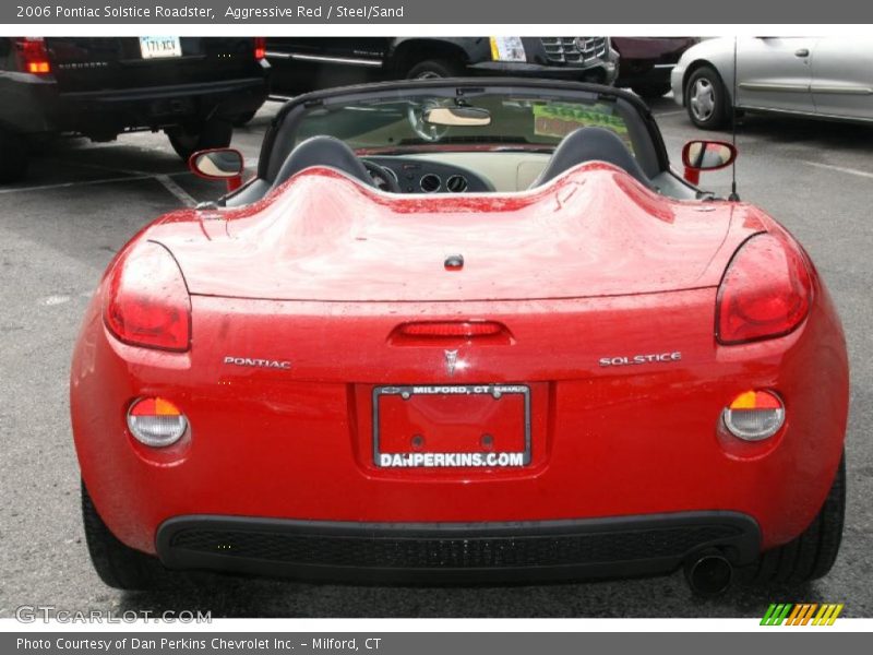
[{"label": "right red taillight of the roadster, above the SOLSTICE badge side", "polygon": [[763,234],[733,255],[716,300],[716,337],[741,344],[782,336],[810,311],[812,279],[803,255],[782,237]]}]

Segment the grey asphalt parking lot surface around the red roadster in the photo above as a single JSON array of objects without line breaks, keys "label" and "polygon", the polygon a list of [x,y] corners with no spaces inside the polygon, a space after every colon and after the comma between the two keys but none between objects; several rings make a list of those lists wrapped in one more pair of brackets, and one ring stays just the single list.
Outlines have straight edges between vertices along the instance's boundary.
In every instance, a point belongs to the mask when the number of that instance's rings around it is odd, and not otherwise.
[{"label": "grey asphalt parking lot surface around the red roadster", "polygon": [[[678,160],[684,141],[704,133],[671,100],[654,106]],[[277,107],[267,104],[235,135],[250,166]],[[159,214],[222,192],[189,174],[163,134],[135,133],[106,144],[56,143],[34,158],[26,181],[0,187],[0,617],[39,604],[70,611],[199,609],[213,617],[755,617],[772,599],[844,603],[844,616],[873,617],[873,128],[745,117],[738,142],[740,195],[804,243],[849,343],[846,532],[824,580],[733,587],[711,600],[693,597],[681,572],[469,588],[219,576],[160,593],[106,587],[88,561],[79,509],[68,413],[73,341],[112,254]],[[719,171],[704,175],[702,186],[727,194],[729,182],[729,172]]]}]

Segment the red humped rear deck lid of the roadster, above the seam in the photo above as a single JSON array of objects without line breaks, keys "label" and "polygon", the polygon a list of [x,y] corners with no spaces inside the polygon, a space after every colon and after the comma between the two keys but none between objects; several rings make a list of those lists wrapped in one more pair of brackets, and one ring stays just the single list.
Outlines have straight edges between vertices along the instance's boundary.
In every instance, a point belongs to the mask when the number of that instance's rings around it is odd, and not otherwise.
[{"label": "red humped rear deck lid of the roadster, above the seam", "polygon": [[[192,294],[324,301],[584,298],[716,286],[761,229],[589,164],[523,194],[396,196],[310,169],[249,209],[152,238]],[[734,223],[734,229],[731,224]],[[730,234],[730,238],[728,235]],[[461,255],[461,270],[447,258]]]}]

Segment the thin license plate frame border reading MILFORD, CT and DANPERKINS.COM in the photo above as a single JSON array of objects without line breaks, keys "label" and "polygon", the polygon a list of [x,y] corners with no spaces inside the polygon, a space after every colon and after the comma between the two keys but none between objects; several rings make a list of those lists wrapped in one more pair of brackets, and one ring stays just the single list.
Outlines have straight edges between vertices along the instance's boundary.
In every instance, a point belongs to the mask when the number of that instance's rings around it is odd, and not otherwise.
[{"label": "thin license plate frame border reading MILFORD, CT and DANPERKINS.COM", "polygon": [[[489,468],[489,467],[497,467],[497,468],[511,468],[511,469],[519,469],[529,467],[531,464],[531,410],[530,410],[530,386],[527,384],[406,384],[406,385],[384,385],[384,386],[375,386],[373,388],[372,392],[372,456],[373,456],[373,465],[380,469],[388,469],[395,468],[396,466],[384,466],[381,464],[381,456],[388,455],[388,454],[397,454],[397,453],[383,453],[380,450],[380,398],[386,395],[399,395],[404,398],[411,398],[414,395],[447,395],[447,394],[468,394],[468,395],[490,395],[495,400],[502,397],[503,395],[521,395],[523,401],[523,417],[522,417],[522,429],[523,429],[523,442],[524,442],[524,451],[521,453],[522,455],[522,463],[519,464],[509,464],[509,465],[463,465],[463,466],[450,466],[450,465],[411,465],[411,464],[404,464],[405,468],[412,468],[412,469],[421,469],[421,468],[429,468],[429,467],[444,467],[444,468],[463,468],[463,469],[470,469],[470,468]],[[404,395],[407,394],[407,395]],[[497,394],[497,395],[495,395]],[[507,451],[498,451],[495,454],[504,454]],[[412,454],[412,453],[403,453],[403,454]],[[433,454],[433,453],[429,453]],[[456,453],[459,454],[459,453]],[[465,453],[466,454],[466,453]],[[517,453],[514,453],[517,455]]]}]

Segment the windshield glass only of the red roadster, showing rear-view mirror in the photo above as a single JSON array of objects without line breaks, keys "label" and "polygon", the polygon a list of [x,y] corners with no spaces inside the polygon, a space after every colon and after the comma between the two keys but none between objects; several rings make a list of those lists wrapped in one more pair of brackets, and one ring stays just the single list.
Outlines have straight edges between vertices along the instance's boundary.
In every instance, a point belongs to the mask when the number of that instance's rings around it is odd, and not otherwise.
[{"label": "windshield glass only of the red roadster, showing rear-view mirror", "polygon": [[[297,121],[295,144],[326,134],[340,139],[352,150],[368,153],[433,146],[444,150],[451,145],[464,150],[465,144],[551,151],[574,130],[597,126],[614,132],[634,152],[634,140],[620,105],[614,99],[588,95],[589,98],[569,99],[524,93],[463,96],[428,93],[355,102],[337,98],[304,109]],[[434,111],[436,108],[451,111]]]}]

